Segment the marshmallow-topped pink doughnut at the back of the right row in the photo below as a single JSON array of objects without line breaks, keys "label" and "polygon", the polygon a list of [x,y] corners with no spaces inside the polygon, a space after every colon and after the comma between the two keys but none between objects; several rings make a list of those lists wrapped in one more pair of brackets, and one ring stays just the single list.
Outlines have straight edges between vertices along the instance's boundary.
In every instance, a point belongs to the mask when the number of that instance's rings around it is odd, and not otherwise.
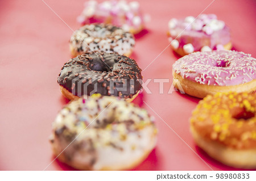
[{"label": "marshmallow-topped pink doughnut at the back of the right row", "polygon": [[230,50],[229,28],[214,14],[201,14],[198,18],[172,18],[168,23],[168,36],[171,48],[180,56],[192,52]]}]

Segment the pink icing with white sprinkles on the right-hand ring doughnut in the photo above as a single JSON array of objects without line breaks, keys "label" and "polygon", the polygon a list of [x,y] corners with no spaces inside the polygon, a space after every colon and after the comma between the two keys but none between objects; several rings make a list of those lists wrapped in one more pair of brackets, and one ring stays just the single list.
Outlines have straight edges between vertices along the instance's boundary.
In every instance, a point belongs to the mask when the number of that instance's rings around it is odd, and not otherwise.
[{"label": "pink icing with white sprinkles on the right-hand ring doughnut", "polygon": [[256,79],[256,58],[234,50],[191,53],[172,68],[181,77],[203,85],[233,86]]}]

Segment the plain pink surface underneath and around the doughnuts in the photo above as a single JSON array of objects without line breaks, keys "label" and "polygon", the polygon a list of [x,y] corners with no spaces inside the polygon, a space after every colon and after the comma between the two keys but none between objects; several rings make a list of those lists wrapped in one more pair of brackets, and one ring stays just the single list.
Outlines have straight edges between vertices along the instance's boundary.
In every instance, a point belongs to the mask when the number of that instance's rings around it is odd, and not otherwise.
[{"label": "plain pink surface underneath and around the doughnuts", "polygon": [[[132,58],[144,69],[168,45],[166,36],[170,18],[197,16],[207,1],[139,1],[144,12],[151,15],[147,31],[137,35]],[[82,1],[46,3],[73,29],[80,24],[77,15]],[[216,0],[205,13],[217,14],[232,30],[234,49],[251,53],[255,49],[256,1]],[[41,0],[0,1],[0,170],[43,170],[54,158],[48,141],[51,123],[68,102],[57,84],[61,66],[71,57],[68,40],[72,30]],[[171,67],[177,56],[167,48],[145,71],[144,79],[167,78],[164,94],[159,84],[148,85],[152,94],[143,92],[135,102],[146,102],[170,127],[156,117],[158,144],[150,156],[134,170],[236,170],[209,158],[193,141],[189,117],[199,99],[177,92],[167,94],[171,86]],[[186,145],[182,138],[188,145]],[[188,147],[190,146],[193,151]],[[47,170],[73,170],[53,162]]]}]

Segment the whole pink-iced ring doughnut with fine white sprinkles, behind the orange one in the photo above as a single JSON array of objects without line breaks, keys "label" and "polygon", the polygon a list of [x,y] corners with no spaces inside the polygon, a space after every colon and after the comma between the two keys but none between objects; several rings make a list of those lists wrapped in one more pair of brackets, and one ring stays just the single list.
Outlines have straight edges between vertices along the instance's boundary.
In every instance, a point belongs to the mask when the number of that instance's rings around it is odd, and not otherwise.
[{"label": "whole pink-iced ring doughnut with fine white sprinkles, behind the orange one", "polygon": [[188,54],[175,62],[172,74],[176,89],[197,98],[256,90],[256,58],[234,50]]}]

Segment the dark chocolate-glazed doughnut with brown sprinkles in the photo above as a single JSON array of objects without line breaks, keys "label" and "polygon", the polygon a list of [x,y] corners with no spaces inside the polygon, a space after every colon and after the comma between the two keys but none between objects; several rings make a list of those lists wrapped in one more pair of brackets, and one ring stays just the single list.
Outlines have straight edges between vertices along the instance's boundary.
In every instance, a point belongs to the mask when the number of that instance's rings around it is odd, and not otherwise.
[{"label": "dark chocolate-glazed doughnut with brown sprinkles", "polygon": [[142,88],[140,80],[141,69],[135,60],[118,53],[90,52],[65,63],[57,82],[71,100],[100,93],[131,101]]}]

